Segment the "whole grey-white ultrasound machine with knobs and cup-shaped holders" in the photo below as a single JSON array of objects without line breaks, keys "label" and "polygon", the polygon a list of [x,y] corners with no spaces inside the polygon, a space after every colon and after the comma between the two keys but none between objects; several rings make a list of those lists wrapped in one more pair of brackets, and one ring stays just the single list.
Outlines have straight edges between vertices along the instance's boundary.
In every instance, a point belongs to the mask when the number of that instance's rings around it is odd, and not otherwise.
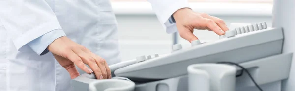
[{"label": "whole grey-white ultrasound machine with knobs and cup-shaped holders", "polygon": [[188,48],[173,45],[166,55],[138,56],[109,66],[112,79],[96,80],[94,74],[85,73],[72,79],[71,87],[74,91],[281,91],[293,55],[282,52],[283,30],[266,22],[232,24],[219,40],[195,40]]}]

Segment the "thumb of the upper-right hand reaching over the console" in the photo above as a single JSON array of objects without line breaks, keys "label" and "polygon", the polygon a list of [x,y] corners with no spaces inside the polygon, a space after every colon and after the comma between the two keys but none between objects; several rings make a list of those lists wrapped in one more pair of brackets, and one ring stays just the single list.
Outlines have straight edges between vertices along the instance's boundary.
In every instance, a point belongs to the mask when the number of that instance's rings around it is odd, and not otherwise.
[{"label": "thumb of the upper-right hand reaching over the console", "polygon": [[191,43],[194,40],[198,40],[198,37],[196,37],[193,34],[193,31],[194,30],[189,30],[189,29],[183,27],[183,28],[179,29],[179,35],[180,35],[180,37],[182,37],[183,39],[185,39]]}]

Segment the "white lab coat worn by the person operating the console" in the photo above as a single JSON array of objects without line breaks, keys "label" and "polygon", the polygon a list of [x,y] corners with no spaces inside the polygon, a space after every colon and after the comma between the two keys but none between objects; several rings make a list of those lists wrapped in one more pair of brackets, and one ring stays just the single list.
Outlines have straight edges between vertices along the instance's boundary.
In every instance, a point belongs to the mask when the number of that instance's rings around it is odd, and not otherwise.
[{"label": "white lab coat worn by the person operating the console", "polygon": [[[164,24],[172,13],[188,7],[186,0],[149,2],[167,29],[175,29]],[[120,61],[109,0],[0,0],[0,91],[71,91],[68,72],[52,54],[39,56],[27,45],[55,29],[109,65]]]}]

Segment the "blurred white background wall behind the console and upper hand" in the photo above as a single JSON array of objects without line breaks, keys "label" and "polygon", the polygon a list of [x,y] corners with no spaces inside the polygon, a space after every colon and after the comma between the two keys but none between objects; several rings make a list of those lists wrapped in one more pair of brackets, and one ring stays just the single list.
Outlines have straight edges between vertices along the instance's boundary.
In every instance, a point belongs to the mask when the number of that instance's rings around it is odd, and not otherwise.
[{"label": "blurred white background wall behind the console and upper hand", "polygon": [[[171,52],[172,34],[163,30],[148,2],[112,2],[118,21],[119,43],[122,60],[135,59],[140,55],[166,54]],[[271,25],[271,3],[190,3],[194,11],[205,12],[230,23],[259,23]],[[201,42],[218,40],[214,32],[195,30]],[[179,37],[179,36],[178,36]],[[189,42],[178,38],[183,47]]]}]

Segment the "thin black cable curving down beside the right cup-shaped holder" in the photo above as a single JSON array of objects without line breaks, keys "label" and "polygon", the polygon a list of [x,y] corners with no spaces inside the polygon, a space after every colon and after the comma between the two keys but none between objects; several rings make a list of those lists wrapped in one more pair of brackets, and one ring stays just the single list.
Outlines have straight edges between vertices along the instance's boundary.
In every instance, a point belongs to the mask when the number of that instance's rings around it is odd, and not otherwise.
[{"label": "thin black cable curving down beside the right cup-shaped holder", "polygon": [[242,66],[239,65],[239,64],[233,63],[233,62],[218,62],[218,63],[220,63],[220,64],[233,64],[233,65],[236,65],[236,66],[242,68],[242,70],[241,70],[241,74],[236,75],[236,77],[241,76],[241,75],[243,74],[243,71],[245,71],[245,72],[249,75],[250,79],[253,81],[253,83],[255,84],[255,86],[256,86],[260,91],[263,91],[263,90],[259,87],[259,85],[255,82],[255,80],[254,80],[253,77],[251,76],[250,72],[249,72],[246,68],[242,67]]}]

